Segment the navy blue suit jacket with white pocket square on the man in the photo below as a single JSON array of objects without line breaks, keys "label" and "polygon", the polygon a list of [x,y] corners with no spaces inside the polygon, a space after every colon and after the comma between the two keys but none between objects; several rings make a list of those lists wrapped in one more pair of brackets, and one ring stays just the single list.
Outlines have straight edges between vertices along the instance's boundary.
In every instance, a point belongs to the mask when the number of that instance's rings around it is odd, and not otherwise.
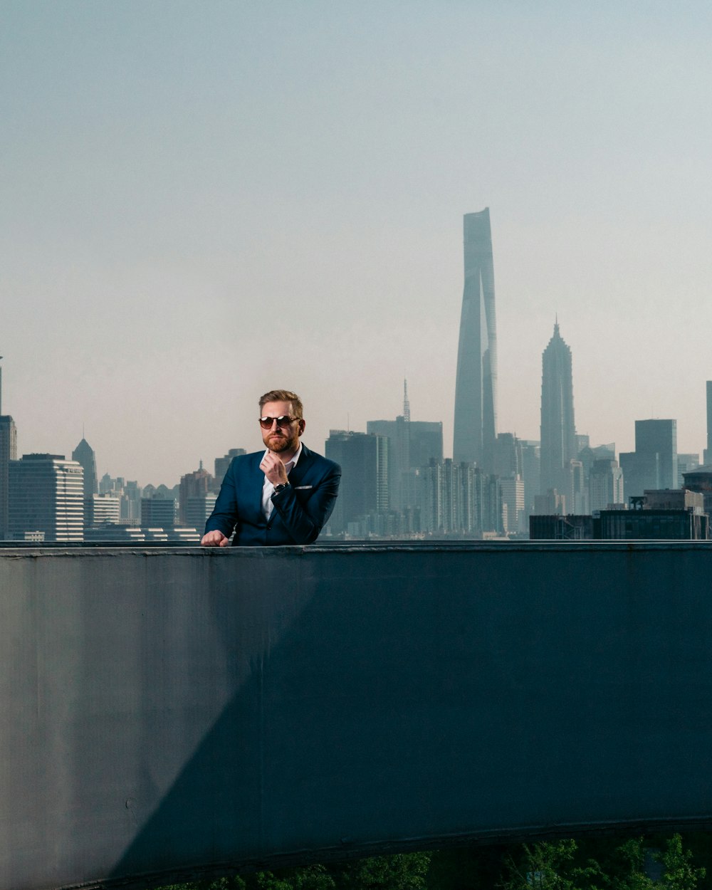
[{"label": "navy blue suit jacket with white pocket square on the man", "polygon": [[230,538],[234,529],[232,546],[312,544],[334,509],[341,467],[303,445],[287,489],[272,496],[272,512],[265,519],[263,456],[264,451],[255,451],[232,458],[206,532],[218,529]]}]

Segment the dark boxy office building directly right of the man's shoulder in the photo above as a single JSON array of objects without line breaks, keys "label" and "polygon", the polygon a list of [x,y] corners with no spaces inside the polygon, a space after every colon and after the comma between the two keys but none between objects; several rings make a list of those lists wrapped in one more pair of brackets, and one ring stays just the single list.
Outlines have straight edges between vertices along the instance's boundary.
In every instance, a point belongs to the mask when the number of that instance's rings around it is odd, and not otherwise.
[{"label": "dark boxy office building directly right of the man's shoulder", "polygon": [[368,514],[388,509],[388,439],[371,433],[331,430],[324,453],[341,465],[341,485],[328,525],[348,532]]}]

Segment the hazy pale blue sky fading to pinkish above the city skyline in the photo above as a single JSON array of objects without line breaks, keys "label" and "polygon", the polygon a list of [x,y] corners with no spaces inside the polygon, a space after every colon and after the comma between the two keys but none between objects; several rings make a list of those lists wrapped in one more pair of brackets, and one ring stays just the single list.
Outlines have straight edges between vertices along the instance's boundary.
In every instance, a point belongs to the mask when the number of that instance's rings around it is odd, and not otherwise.
[{"label": "hazy pale blue sky fading to pinkish above the city skyline", "polygon": [[712,378],[712,6],[0,0],[0,353],[20,453],[172,485],[401,412],[451,451],[462,216],[490,207],[498,430],[538,439],[558,313],[579,433]]}]

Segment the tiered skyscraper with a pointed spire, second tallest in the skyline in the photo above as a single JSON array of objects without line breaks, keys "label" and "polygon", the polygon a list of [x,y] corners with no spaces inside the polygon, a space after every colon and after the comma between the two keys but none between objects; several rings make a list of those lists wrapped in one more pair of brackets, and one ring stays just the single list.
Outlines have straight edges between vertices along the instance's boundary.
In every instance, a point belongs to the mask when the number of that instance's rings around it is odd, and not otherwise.
[{"label": "tiered skyscraper with a pointed spire, second tallest in the skyline", "polygon": [[573,507],[573,473],[576,459],[576,427],[573,419],[571,351],[559,334],[558,321],[541,361],[541,485],[542,494],[555,490]]}]

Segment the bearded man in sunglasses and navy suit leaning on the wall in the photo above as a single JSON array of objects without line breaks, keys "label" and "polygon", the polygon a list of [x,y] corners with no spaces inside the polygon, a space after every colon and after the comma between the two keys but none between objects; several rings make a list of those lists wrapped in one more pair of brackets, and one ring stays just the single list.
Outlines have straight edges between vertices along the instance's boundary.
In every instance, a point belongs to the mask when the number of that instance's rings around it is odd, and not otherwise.
[{"label": "bearded man in sunglasses and navy suit leaning on the wall", "polygon": [[265,392],[259,423],[266,451],[234,457],[225,473],[201,544],[206,547],[312,544],[331,511],[341,467],[300,441],[299,396]]}]

